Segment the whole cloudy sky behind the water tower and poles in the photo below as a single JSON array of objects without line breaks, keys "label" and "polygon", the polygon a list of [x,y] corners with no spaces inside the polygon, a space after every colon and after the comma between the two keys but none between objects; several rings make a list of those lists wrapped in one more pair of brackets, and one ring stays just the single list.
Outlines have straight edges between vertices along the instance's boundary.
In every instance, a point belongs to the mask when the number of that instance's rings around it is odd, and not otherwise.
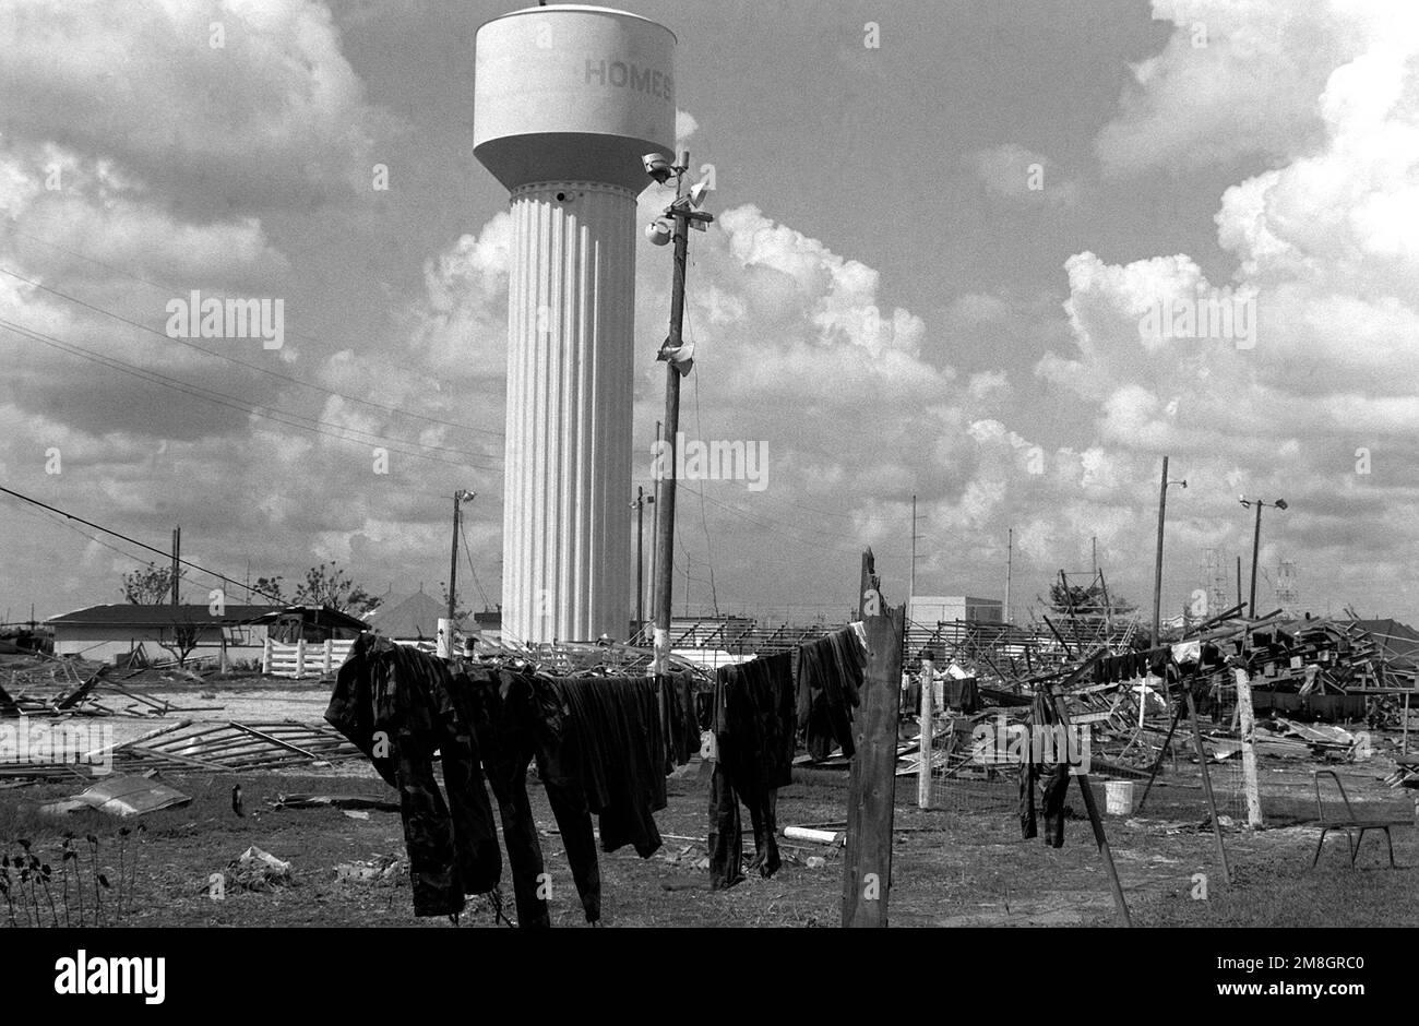
[{"label": "whole cloudy sky behind the water tower and poles", "polygon": [[[0,484],[397,595],[438,593],[467,487],[461,590],[497,602],[509,221],[473,40],[512,7],[0,0]],[[1165,612],[1208,549],[1250,559],[1244,492],[1290,504],[1259,605],[1288,559],[1305,607],[1419,619],[1419,6],[627,7],[678,34],[717,186],[683,426],[769,454],[763,491],[683,495],[677,612],[688,572],[694,609],[837,617],[864,544],[901,600],[912,495],[918,593],[999,597],[1013,528],[1017,616],[1091,538],[1147,605],[1168,454]],[[637,258],[648,481],[670,261]],[[192,289],[282,298],[284,345],[167,338]],[[1147,328],[1218,297],[1249,338]],[[0,495],[0,614],[119,600],[132,553]]]}]

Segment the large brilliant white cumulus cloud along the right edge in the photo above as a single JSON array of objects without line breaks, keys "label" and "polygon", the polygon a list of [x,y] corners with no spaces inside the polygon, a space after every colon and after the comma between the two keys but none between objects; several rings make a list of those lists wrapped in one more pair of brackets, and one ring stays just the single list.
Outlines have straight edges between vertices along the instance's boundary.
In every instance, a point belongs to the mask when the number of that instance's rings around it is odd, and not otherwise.
[{"label": "large brilliant white cumulus cloud along the right edge", "polygon": [[[1398,552],[1416,541],[1395,515],[1412,502],[1410,484],[1357,475],[1355,453],[1384,451],[1392,467],[1419,458],[1419,267],[1401,227],[1419,209],[1419,23],[1408,9],[1364,3],[1155,3],[1155,17],[1176,31],[1135,70],[1137,87],[1100,135],[1105,170],[1242,155],[1274,166],[1222,196],[1229,280],[1209,280],[1183,254],[1071,257],[1071,346],[1036,373],[1094,410],[1100,441],[1124,467],[1147,474],[1171,451],[1195,484],[1225,485],[1232,502],[1236,491],[1284,495],[1293,553],[1330,566],[1337,588],[1402,593],[1398,565],[1341,559],[1334,531],[1348,509],[1349,545]],[[1191,43],[1199,23],[1205,47]],[[1144,329],[1151,308],[1218,295],[1254,299],[1254,346]],[[1182,538],[1218,542],[1202,526],[1226,522],[1227,497],[1216,492],[1200,508],[1202,494],[1179,500],[1200,514]]]}]

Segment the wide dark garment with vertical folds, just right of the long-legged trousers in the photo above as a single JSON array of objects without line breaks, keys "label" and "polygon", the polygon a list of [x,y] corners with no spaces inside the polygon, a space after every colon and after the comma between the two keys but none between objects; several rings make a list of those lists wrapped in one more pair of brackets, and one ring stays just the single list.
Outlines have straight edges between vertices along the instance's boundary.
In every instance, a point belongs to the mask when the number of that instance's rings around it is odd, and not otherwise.
[{"label": "wide dark garment with vertical folds, just right of the long-legged trousers", "polygon": [[663,843],[653,813],[666,807],[670,759],[654,678],[549,680],[582,741],[578,771],[600,822],[602,850],[633,844],[648,859]]}]

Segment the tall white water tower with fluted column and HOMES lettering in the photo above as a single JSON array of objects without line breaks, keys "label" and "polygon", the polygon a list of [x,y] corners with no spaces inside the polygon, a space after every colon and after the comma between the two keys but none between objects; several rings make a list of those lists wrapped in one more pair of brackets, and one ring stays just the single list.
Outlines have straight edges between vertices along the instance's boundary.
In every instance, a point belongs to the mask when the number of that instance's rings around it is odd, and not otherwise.
[{"label": "tall white water tower with fluted column and HOMES lettering", "polygon": [[578,4],[478,28],[474,153],[507,186],[502,631],[623,639],[641,158],[675,142],[674,34]]}]

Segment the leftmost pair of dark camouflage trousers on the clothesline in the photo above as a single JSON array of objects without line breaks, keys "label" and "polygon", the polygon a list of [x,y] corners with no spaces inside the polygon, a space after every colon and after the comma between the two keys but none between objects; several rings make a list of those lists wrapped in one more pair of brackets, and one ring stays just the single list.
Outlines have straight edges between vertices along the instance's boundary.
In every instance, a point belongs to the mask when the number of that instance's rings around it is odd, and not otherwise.
[{"label": "leftmost pair of dark camouflage trousers on the clothesline", "polygon": [[[360,634],[325,719],[399,790],[414,915],[455,915],[465,894],[498,886],[502,856],[471,710],[441,660]],[[434,782],[436,751],[447,800]]]}]

